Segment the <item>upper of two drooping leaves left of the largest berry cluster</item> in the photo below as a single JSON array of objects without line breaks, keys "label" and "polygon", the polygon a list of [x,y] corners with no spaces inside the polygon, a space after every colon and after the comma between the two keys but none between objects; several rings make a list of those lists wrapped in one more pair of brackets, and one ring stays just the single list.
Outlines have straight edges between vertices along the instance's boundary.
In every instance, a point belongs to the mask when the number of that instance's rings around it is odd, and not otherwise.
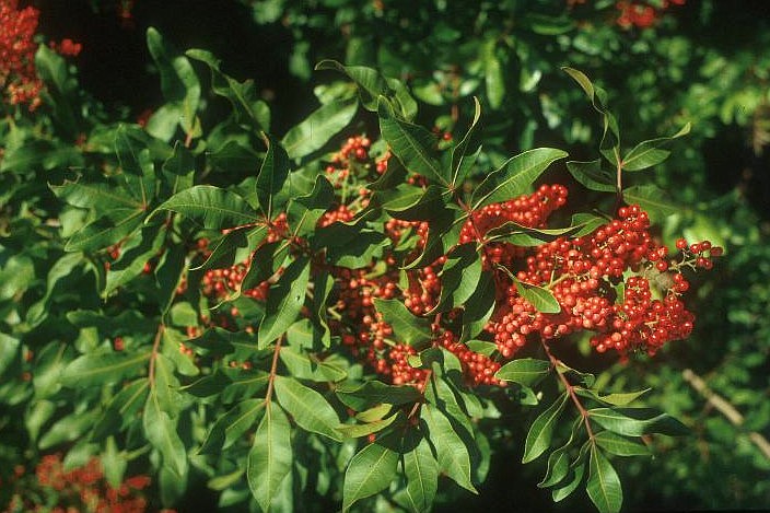
[{"label": "upper of two drooping leaves left of the largest berry cluster", "polygon": [[481,258],[475,243],[455,246],[446,255],[442,269],[441,294],[435,308],[429,313],[445,312],[464,305],[481,284]]}]

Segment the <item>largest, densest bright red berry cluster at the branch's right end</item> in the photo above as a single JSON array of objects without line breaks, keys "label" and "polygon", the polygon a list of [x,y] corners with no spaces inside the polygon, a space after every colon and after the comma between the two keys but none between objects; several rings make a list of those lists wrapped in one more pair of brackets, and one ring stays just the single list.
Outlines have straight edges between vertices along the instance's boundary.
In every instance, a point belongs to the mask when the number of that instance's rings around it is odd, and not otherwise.
[{"label": "largest, densest bright red berry cluster at the branch's right end", "polygon": [[[654,354],[665,342],[689,336],[695,317],[679,299],[689,288],[680,270],[710,268],[711,257],[722,250],[708,241],[691,246],[678,242],[681,259],[668,261],[668,249],[652,240],[649,228],[646,212],[638,206],[622,207],[618,219],[590,235],[560,237],[537,247],[516,278],[550,290],[561,311],[537,312],[510,284],[497,320],[487,326],[502,357],[511,358],[530,334],[548,340],[595,331],[591,341],[597,351],[616,349],[623,358],[632,350]],[[498,282],[505,282],[504,276]],[[651,282],[657,289],[652,290]],[[653,299],[654,294],[663,299]]]}]

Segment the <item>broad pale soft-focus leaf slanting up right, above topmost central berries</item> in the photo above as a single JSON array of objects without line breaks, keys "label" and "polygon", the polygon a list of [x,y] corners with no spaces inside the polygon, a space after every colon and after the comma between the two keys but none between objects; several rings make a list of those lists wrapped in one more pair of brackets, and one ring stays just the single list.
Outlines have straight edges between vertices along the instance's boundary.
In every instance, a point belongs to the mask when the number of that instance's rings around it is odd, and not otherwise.
[{"label": "broad pale soft-focus leaf slanting up right, above topmost central berries", "polygon": [[302,159],[324,148],[324,144],[350,124],[358,108],[359,102],[352,97],[332,101],[314,110],[281,139],[289,159]]}]

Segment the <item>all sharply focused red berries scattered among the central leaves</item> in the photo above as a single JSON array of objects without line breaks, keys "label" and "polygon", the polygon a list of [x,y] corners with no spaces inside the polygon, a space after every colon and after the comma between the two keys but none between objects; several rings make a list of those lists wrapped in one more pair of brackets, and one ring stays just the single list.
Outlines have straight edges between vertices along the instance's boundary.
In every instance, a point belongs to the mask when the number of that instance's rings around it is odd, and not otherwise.
[{"label": "all sharply focused red berries scattered among the central leaves", "polygon": [[[368,189],[361,188],[358,195],[347,191],[349,186],[359,186],[361,179],[376,178],[387,170],[389,152],[373,158],[371,145],[366,137],[351,137],[330,156],[326,174],[335,184],[337,197],[318,219],[318,228],[349,222],[366,207]],[[415,175],[409,183],[424,187],[427,180]],[[497,351],[492,354],[475,352],[459,341],[456,320],[462,308],[433,314],[442,293],[446,255],[425,266],[402,267],[424,250],[431,230],[425,221],[384,220],[389,248],[366,267],[337,267],[316,255],[313,272],[329,272],[335,280],[329,299],[331,334],[374,372],[394,384],[418,388],[424,386],[428,371],[410,364],[409,357],[417,349],[399,340],[375,308],[375,299],[400,301],[412,315],[431,318],[432,339],[425,346],[455,354],[470,385],[503,386],[494,378],[498,369],[522,347],[537,340],[588,331],[596,351],[614,349],[627,358],[632,351],[654,354],[667,341],[687,337],[693,316],[681,301],[681,294],[689,289],[681,271],[710,269],[711,258],[720,256],[721,248],[708,241],[688,244],[680,240],[676,244],[679,257],[669,257],[668,249],[651,235],[649,215],[639,206],[620,208],[616,219],[580,237],[561,236],[536,246],[517,246],[500,235],[506,223],[513,224],[513,230],[546,229],[551,214],[567,203],[567,198],[563,185],[541,185],[533,194],[468,212],[460,228],[458,244],[476,244],[482,268],[493,277],[495,307],[480,335],[494,343]],[[285,214],[267,224],[268,242],[285,241],[298,252],[308,250],[305,241],[291,236]],[[202,259],[211,254],[206,241],[199,241],[196,250]],[[225,269],[206,271],[203,295],[217,304],[226,300],[232,291],[240,290],[250,264],[248,258]],[[242,291],[242,295],[265,301],[270,285],[267,280]],[[533,285],[552,295],[558,313],[539,312],[527,294],[523,295],[522,287]],[[230,316],[218,314],[203,324],[230,327],[237,315],[237,310],[232,308]],[[199,334],[199,327],[188,329],[190,336]],[[245,368],[249,363],[231,365]]]}]

